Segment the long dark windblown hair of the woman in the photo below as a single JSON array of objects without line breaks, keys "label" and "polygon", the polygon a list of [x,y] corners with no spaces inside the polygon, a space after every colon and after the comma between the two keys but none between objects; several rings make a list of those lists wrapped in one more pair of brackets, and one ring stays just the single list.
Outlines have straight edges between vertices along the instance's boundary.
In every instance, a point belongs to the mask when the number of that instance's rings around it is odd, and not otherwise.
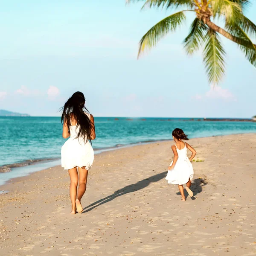
[{"label": "long dark windblown hair of the woman", "polygon": [[67,120],[67,126],[71,125],[71,117],[76,120],[76,127],[79,126],[79,132],[77,137],[82,137],[85,142],[90,140],[90,132],[92,130],[92,122],[90,118],[84,113],[86,111],[89,113],[87,108],[84,106],[85,98],[84,94],[81,92],[74,93],[65,103],[62,108],[63,112],[61,115],[61,123],[64,123],[64,120]]}]

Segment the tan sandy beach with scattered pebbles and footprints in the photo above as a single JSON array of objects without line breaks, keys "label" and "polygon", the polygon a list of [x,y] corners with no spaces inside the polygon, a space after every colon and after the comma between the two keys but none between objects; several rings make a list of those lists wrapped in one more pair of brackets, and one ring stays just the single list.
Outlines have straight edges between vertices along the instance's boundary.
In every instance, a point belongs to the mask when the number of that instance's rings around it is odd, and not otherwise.
[{"label": "tan sandy beach with scattered pebbles and footprints", "polygon": [[0,255],[256,255],[256,134],[190,140],[186,202],[165,180],[172,143],[96,155],[81,214],[60,166],[1,186]]}]

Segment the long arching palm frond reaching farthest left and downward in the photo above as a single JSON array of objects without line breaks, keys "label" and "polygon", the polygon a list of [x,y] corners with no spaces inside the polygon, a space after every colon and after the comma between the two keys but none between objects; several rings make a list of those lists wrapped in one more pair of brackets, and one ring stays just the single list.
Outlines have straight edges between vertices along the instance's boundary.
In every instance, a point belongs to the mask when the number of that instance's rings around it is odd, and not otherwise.
[{"label": "long arching palm frond reaching farthest left and downward", "polygon": [[184,15],[183,11],[176,12],[175,14],[161,20],[151,29],[149,29],[148,32],[140,40],[138,57],[140,53],[142,53],[145,49],[151,49],[154,47],[157,42],[165,37],[169,32],[175,31],[177,26],[180,26],[185,18],[186,16]]}]

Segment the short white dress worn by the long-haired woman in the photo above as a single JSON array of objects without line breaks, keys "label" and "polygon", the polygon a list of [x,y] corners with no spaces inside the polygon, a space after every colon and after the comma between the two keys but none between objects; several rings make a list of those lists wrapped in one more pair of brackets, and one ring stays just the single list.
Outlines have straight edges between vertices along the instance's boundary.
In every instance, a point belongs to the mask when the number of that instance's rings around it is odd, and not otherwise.
[{"label": "short white dress worn by the long-haired woman", "polygon": [[[85,113],[89,119],[90,114]],[[61,166],[64,169],[72,169],[76,166],[89,170],[93,165],[94,152],[90,142],[85,143],[82,137],[77,137],[79,125],[70,125],[70,138],[61,148]],[[85,138],[86,139],[86,138]]]}]

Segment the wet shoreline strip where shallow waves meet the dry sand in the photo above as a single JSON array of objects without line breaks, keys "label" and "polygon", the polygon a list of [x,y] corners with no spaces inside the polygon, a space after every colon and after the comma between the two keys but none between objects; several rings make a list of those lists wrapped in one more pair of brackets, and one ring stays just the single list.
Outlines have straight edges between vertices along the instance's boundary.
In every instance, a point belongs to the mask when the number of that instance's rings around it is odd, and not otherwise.
[{"label": "wet shoreline strip where shallow waves meet the dry sand", "polygon": [[[243,134],[255,134],[255,133],[224,134],[224,135],[212,135],[212,136],[195,137],[195,138],[192,137],[190,140],[210,138],[210,137],[223,137],[223,136],[229,136],[229,135],[243,135]],[[94,149],[94,154],[95,155],[96,154],[102,154],[104,152],[115,151],[115,150],[122,149],[122,148],[130,148],[130,147],[134,147],[134,146],[137,146],[137,145],[147,145],[147,144],[162,143],[162,142],[168,142],[168,141],[172,141],[172,139],[148,140],[148,141],[145,141],[145,142],[131,143],[131,144],[127,144],[127,145],[120,145],[120,146],[116,145],[115,147]],[[32,161],[32,163],[31,163],[31,161]],[[60,161],[61,161],[61,158],[36,159],[36,160],[26,160],[26,161],[23,161],[21,163],[14,163],[14,164],[6,165],[7,168],[8,168],[9,166],[12,166],[12,165],[16,166],[16,165],[19,165],[19,164],[28,163],[27,165],[21,165],[21,166],[10,168],[10,171],[8,171],[8,172],[0,172],[0,177],[1,177],[1,175],[5,175],[6,173],[8,173],[8,174],[12,173],[13,174],[14,171],[17,174],[19,174],[18,176],[15,176],[15,177],[10,175],[11,176],[10,178],[4,178],[4,179],[3,179],[3,176],[2,176],[2,180],[0,182],[0,194],[3,193],[3,192],[1,192],[1,191],[3,191],[1,189],[1,186],[9,183],[9,181],[15,180],[16,178],[29,176],[34,172],[40,172],[40,171],[43,171],[43,170],[48,169],[48,168],[52,168],[52,167],[55,167],[55,166],[60,166]],[[57,162],[59,162],[59,163],[56,164]],[[1,168],[5,168],[6,166],[0,166],[0,171],[1,171]],[[33,166],[35,167],[35,171],[31,171]],[[23,173],[20,173],[20,171],[21,172],[23,171]]]}]

